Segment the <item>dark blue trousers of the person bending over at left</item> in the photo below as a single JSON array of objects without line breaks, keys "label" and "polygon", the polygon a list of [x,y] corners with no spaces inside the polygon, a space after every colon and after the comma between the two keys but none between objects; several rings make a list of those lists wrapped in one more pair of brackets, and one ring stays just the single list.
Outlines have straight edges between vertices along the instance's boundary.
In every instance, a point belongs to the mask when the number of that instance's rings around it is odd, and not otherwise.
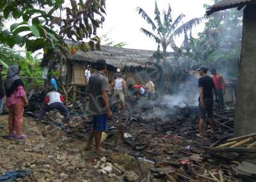
[{"label": "dark blue trousers of the person bending over at left", "polygon": [[63,116],[65,116],[67,121],[70,121],[70,113],[67,107],[62,102],[54,102],[54,103],[51,103],[50,105],[46,105],[40,113],[39,120],[42,121],[45,114],[54,109],[57,109]]}]

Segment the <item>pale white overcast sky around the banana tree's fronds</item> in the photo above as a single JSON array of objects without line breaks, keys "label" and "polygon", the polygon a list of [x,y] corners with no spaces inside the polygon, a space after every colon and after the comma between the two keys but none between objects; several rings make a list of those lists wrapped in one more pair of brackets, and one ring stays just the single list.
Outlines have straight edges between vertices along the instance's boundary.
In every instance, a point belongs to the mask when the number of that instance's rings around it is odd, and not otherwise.
[{"label": "pale white overcast sky around the banana tree's fronds", "polygon": [[[186,15],[183,22],[187,22],[205,14],[204,4],[213,4],[211,0],[158,0],[159,11],[172,7],[172,18],[177,18],[180,13]],[[99,36],[108,33],[108,38],[115,42],[125,42],[125,48],[156,50],[157,44],[143,33],[140,27],[152,30],[147,22],[138,14],[136,8],[140,6],[154,19],[155,0],[106,0],[106,21],[103,29],[99,29]],[[193,29],[193,36],[204,29],[204,22]],[[182,42],[183,36],[176,38],[177,45]]]}]

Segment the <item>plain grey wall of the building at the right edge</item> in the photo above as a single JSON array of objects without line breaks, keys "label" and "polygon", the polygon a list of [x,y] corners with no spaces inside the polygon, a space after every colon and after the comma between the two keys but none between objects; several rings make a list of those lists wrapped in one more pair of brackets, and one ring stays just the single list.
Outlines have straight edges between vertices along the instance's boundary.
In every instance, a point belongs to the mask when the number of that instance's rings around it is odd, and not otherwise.
[{"label": "plain grey wall of the building at the right edge", "polygon": [[236,136],[256,133],[256,4],[244,8],[243,40],[237,83]]}]

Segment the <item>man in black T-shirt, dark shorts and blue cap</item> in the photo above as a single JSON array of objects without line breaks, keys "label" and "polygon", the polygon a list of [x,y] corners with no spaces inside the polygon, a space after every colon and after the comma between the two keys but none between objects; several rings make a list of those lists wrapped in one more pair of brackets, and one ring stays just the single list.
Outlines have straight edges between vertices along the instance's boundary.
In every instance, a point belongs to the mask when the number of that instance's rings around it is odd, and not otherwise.
[{"label": "man in black T-shirt, dark shorts and blue cap", "polygon": [[205,66],[200,66],[197,70],[200,74],[200,79],[198,80],[199,86],[199,134],[196,136],[203,138],[204,137],[204,127],[205,127],[205,119],[206,114],[210,120],[211,132],[213,133],[215,130],[215,121],[213,118],[213,91],[216,95],[216,89],[214,86],[214,82],[211,77],[207,75],[208,68]]}]

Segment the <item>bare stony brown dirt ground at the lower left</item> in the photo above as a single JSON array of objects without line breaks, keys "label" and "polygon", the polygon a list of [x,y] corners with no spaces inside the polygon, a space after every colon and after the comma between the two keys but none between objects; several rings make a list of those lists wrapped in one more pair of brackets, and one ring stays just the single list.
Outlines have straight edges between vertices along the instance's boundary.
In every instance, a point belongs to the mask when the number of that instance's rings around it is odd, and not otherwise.
[{"label": "bare stony brown dirt ground at the lower left", "polygon": [[[30,169],[33,173],[17,181],[113,181],[95,175],[93,163],[102,156],[85,151],[85,141],[68,138],[58,128],[24,118],[24,141],[4,139],[8,134],[8,116],[0,116],[0,174],[12,169]],[[115,180],[114,180],[115,181]]]}]

